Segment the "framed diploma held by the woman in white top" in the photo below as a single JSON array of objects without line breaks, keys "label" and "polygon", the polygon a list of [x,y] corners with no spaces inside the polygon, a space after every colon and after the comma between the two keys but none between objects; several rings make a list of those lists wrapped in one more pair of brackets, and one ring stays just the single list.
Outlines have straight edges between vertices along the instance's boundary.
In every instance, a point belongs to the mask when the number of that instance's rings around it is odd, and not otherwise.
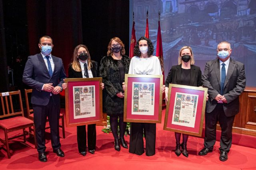
[{"label": "framed diploma held by the woman in white top", "polygon": [[162,75],[125,74],[124,121],[161,123]]}]

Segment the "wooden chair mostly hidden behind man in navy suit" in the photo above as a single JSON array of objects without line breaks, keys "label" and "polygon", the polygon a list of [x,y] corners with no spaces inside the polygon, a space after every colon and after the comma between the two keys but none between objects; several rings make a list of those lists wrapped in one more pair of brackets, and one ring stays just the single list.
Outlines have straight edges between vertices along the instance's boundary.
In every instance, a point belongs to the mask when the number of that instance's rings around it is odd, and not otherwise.
[{"label": "wooden chair mostly hidden behind man in navy suit", "polygon": [[[27,107],[27,113],[28,113],[28,118],[34,121],[34,113],[33,113],[33,109],[32,107],[30,107],[29,105],[29,100],[28,98],[30,98],[31,96],[29,96],[29,94],[32,93],[32,89],[25,89],[25,98],[26,98],[26,107]],[[59,127],[62,128],[62,137],[65,139],[65,125],[64,125],[64,114],[60,113],[60,119],[61,119],[61,125],[59,125]],[[47,120],[48,121],[48,117]],[[46,127],[45,129],[49,129],[50,127]],[[32,129],[30,129],[30,131],[32,131]]]}]

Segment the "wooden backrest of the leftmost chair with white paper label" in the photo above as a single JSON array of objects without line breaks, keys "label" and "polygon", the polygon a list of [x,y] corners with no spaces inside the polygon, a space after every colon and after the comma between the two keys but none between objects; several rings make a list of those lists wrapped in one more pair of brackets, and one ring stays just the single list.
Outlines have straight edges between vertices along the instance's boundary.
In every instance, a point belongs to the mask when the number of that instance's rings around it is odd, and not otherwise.
[{"label": "wooden backrest of the leftmost chair with white paper label", "polygon": [[[3,111],[3,115],[0,115],[0,118],[14,115],[24,116],[20,90],[0,93],[0,98]],[[20,107],[18,108],[18,106]]]}]

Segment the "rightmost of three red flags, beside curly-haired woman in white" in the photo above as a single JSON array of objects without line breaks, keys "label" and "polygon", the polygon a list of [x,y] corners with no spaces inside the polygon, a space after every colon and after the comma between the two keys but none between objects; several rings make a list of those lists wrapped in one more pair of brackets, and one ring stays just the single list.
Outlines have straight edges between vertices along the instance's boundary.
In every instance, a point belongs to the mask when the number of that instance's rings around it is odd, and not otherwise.
[{"label": "rightmost of three red flags, beside curly-haired woman in white", "polygon": [[[159,14],[160,15],[160,14]],[[160,16],[159,16],[160,18]],[[163,58],[163,47],[162,47],[162,35],[160,28],[160,19],[158,20],[158,31],[157,31],[157,40],[156,40],[156,56],[159,58],[162,74],[163,74],[163,84],[164,84],[164,58]],[[163,94],[163,99],[164,99]]]}]

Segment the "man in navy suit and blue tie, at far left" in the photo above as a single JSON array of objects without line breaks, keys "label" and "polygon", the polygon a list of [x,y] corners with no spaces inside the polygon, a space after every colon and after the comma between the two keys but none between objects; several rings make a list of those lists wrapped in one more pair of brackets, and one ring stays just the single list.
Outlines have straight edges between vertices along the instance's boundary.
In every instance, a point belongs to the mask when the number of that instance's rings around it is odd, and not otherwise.
[{"label": "man in navy suit and blue tie, at far left", "polygon": [[28,57],[22,80],[33,88],[31,103],[34,109],[38,158],[41,162],[46,162],[44,135],[47,117],[50,124],[53,152],[58,156],[64,156],[64,152],[60,149],[59,93],[62,90],[66,73],[62,59],[51,55],[53,48],[51,37],[46,35],[41,37],[38,47],[41,53]]}]

